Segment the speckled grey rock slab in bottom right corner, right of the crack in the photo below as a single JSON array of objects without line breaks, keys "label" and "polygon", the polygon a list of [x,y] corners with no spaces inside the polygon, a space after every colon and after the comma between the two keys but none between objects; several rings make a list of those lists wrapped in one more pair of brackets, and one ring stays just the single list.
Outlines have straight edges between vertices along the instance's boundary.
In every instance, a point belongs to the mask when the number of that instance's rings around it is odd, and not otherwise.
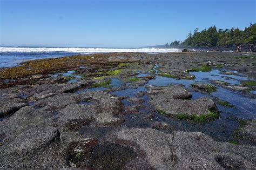
[{"label": "speckled grey rock slab in bottom right corner, right of the crack", "polygon": [[256,147],[214,141],[200,132],[173,133],[170,146],[176,155],[175,169],[252,169]]}]

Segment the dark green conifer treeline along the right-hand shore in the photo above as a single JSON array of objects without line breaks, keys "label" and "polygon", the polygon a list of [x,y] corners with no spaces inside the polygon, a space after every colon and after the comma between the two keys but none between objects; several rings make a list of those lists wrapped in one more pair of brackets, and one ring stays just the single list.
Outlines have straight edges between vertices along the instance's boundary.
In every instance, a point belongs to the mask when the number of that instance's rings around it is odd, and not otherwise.
[{"label": "dark green conifer treeline along the right-hand shore", "polygon": [[203,31],[195,29],[190,32],[184,42],[175,40],[166,46],[194,46],[194,47],[231,47],[238,44],[256,44],[256,23],[251,24],[244,30],[219,29],[211,26]]}]

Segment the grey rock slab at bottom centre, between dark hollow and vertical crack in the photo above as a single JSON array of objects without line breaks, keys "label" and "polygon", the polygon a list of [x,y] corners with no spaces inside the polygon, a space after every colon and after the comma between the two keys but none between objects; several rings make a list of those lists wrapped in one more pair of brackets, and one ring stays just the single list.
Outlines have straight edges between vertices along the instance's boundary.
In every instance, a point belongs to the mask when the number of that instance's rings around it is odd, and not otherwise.
[{"label": "grey rock slab at bottom centre, between dark hollow and vertical crack", "polygon": [[146,152],[147,162],[157,169],[173,167],[172,152],[169,140],[173,135],[150,128],[123,129],[114,133],[118,139],[136,142]]}]

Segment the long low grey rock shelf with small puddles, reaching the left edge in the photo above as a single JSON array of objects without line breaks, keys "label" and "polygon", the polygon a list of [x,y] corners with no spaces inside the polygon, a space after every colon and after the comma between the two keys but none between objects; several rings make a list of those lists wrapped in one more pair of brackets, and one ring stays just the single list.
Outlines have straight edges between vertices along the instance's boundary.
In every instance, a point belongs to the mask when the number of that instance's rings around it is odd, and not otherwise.
[{"label": "long low grey rock shelf with small puddles, reaching the left edge", "polygon": [[33,106],[23,107],[1,121],[0,135],[4,136],[4,141],[11,141],[20,133],[37,126],[54,126],[60,132],[66,127],[76,129],[91,121],[98,126],[109,126],[123,121],[122,117],[116,116],[121,109],[118,98],[102,91],[57,94],[41,99]]}]

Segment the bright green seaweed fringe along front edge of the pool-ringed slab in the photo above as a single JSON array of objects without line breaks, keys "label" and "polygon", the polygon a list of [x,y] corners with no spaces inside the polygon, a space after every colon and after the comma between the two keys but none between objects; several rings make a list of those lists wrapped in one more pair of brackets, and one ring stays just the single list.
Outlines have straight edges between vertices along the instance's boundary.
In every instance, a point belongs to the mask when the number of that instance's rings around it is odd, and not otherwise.
[{"label": "bright green seaweed fringe along front edge of the pool-ringed slab", "polygon": [[200,114],[200,115],[182,113],[182,114],[176,114],[176,115],[174,115],[174,117],[177,120],[189,119],[193,123],[203,124],[203,123],[207,123],[209,121],[218,119],[219,118],[219,113],[218,112],[212,112],[212,111],[208,111],[208,113]]}]

